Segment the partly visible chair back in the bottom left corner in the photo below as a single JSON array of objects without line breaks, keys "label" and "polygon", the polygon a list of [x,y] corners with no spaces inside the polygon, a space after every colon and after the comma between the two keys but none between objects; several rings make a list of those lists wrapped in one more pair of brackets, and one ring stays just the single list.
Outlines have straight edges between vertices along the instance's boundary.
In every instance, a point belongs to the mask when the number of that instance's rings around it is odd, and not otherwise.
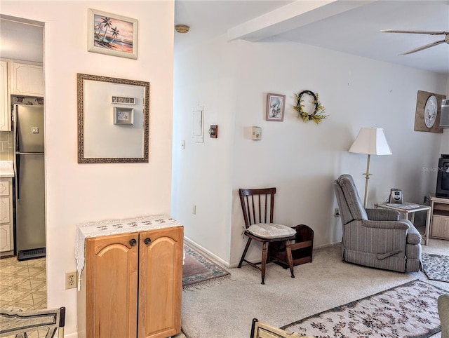
[{"label": "partly visible chair back in the bottom left corner", "polygon": [[0,337],[27,338],[29,332],[45,330],[45,338],[53,338],[56,331],[58,338],[63,338],[64,326],[65,307],[27,311],[0,309]]}]

